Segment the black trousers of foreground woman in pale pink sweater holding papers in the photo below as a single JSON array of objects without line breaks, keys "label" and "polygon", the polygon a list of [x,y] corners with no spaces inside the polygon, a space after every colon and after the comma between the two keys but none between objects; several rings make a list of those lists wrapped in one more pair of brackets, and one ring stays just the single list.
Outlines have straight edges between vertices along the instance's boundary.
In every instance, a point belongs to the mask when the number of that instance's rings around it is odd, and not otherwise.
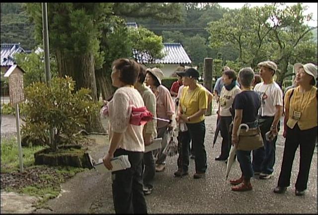
[{"label": "black trousers of foreground woman in pale pink sweater holding papers", "polygon": [[127,154],[131,167],[112,172],[112,192],[116,214],[147,214],[143,192],[143,152],[116,149],[115,156]]}]

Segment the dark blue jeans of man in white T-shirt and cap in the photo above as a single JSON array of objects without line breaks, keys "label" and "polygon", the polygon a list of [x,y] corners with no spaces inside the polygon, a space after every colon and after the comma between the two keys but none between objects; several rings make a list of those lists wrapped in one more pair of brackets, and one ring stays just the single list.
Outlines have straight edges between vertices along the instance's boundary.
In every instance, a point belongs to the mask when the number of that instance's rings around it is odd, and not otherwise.
[{"label": "dark blue jeans of man in white T-shirt and cap", "polygon": [[[263,138],[264,147],[253,150],[252,166],[254,172],[261,172],[265,174],[272,174],[275,164],[275,150],[277,136],[272,141],[266,141],[265,134],[270,131],[274,117],[261,117],[265,120],[260,125],[260,132]],[[277,131],[279,131],[280,123],[277,124]]]}]

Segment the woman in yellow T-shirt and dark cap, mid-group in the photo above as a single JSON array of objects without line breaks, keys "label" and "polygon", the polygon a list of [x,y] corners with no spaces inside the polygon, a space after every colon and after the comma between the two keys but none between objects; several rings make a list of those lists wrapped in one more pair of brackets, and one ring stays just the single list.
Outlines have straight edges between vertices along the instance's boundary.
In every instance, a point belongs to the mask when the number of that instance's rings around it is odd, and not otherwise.
[{"label": "woman in yellow T-shirt and dark cap, mid-group", "polygon": [[195,174],[198,179],[205,176],[207,169],[207,154],[204,148],[205,123],[204,114],[208,108],[208,94],[206,89],[198,84],[199,72],[189,68],[184,72],[177,72],[182,76],[183,89],[178,104],[176,121],[183,121],[188,128],[188,135],[182,138],[182,169],[174,173],[176,177],[188,174],[189,139],[195,155]]}]

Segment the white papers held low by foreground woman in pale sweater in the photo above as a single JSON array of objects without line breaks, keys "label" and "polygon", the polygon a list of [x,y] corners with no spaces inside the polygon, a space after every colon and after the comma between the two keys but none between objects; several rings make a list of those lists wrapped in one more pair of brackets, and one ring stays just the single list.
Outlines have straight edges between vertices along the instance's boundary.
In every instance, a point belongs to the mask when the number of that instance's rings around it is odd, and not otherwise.
[{"label": "white papers held low by foreground woman in pale sweater", "polygon": [[108,170],[104,166],[103,160],[101,158],[98,159],[98,163],[96,163],[94,167],[100,173],[113,172],[113,171],[123,170],[123,169],[127,169],[131,167],[127,154],[114,157],[111,159],[110,162],[111,162],[111,165],[113,166],[112,170]]}]

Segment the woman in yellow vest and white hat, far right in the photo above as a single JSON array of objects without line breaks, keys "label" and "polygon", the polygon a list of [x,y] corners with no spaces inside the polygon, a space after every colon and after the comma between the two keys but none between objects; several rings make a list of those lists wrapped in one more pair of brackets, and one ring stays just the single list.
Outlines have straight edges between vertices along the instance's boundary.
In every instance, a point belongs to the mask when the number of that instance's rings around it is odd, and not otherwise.
[{"label": "woman in yellow vest and white hat, far right", "polygon": [[285,95],[287,116],[286,141],[278,186],[274,193],[285,193],[290,185],[290,177],[295,152],[300,145],[300,167],[295,184],[296,196],[303,196],[307,189],[308,175],[317,141],[317,66],[314,64],[295,64],[298,87],[290,89]]}]

